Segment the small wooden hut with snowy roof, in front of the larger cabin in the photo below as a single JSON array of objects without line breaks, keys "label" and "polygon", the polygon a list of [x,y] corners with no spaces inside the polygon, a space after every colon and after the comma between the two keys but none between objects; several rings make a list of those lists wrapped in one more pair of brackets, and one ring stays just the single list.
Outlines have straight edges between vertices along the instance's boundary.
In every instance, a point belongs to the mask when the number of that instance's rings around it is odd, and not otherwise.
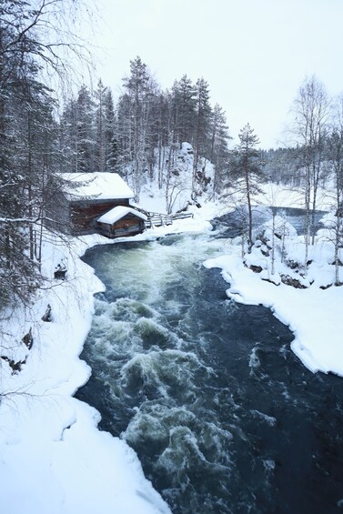
[{"label": "small wooden hut with snowy roof, in front of the larger cabin", "polygon": [[146,216],[136,209],[118,206],[98,218],[98,232],[111,239],[135,236],[143,232],[146,220]]}]

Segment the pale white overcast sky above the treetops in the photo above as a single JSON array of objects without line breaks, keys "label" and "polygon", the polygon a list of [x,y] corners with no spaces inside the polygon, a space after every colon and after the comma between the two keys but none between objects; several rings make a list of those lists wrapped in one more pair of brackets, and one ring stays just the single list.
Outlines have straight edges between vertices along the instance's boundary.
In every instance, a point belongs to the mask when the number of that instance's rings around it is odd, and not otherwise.
[{"label": "pale white overcast sky above the treetops", "polygon": [[203,76],[230,134],[278,146],[306,76],[343,91],[343,0],[95,0],[97,74],[118,95],[139,55],[162,88]]}]

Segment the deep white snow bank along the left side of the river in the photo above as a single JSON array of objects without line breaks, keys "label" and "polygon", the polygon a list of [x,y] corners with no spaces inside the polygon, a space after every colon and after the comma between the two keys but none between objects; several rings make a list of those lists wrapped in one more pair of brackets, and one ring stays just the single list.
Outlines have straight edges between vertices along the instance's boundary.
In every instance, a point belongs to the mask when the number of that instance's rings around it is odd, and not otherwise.
[{"label": "deep white snow bank along the left side of the river", "polygon": [[[61,261],[67,280],[47,279],[35,305],[12,313],[0,355],[25,353],[22,370],[0,359],[1,510],[6,514],[170,512],[145,479],[136,453],[119,438],[99,431],[96,409],[72,398],[90,376],[79,359],[93,314],[93,295],[103,289],[78,256],[103,237],[54,239],[45,244],[44,271],[53,276]],[[47,303],[52,322],[41,320]],[[37,321],[39,320],[39,321]],[[32,328],[28,352],[20,339]],[[19,349],[18,349],[19,348]]]}]

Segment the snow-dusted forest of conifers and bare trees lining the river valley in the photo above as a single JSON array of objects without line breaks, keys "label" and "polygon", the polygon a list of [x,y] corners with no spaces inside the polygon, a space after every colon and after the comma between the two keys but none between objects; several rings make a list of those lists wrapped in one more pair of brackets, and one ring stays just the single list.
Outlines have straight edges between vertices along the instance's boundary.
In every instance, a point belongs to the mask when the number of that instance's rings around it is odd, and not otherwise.
[{"label": "snow-dusted forest of conifers and bare trees lining the river valley", "polygon": [[[116,172],[132,186],[136,201],[142,187],[152,183],[166,191],[170,211],[173,192],[183,187],[179,150],[187,142],[193,156],[187,170],[190,202],[204,191],[209,199],[225,202],[227,191],[234,190],[242,192],[250,210],[252,197],[266,182],[297,187],[307,210],[308,245],[319,187],[329,187],[333,207],[341,212],[343,97],[329,98],[316,76],[299,87],[288,147],[263,150],[249,124],[234,146],[226,113],[212,103],[203,77],[193,83],[185,74],[162,90],[136,56],[116,102],[101,79],[94,90],[86,84],[62,88],[69,74],[64,51],[87,58],[72,32],[66,38],[66,31],[58,30],[67,18],[73,21],[73,3],[34,4],[4,0],[0,6],[2,307],[29,302],[40,287],[44,228],[48,223],[59,230],[48,213],[62,187],[61,172]],[[247,230],[251,246],[251,223]],[[337,250],[341,237],[339,224]]]}]

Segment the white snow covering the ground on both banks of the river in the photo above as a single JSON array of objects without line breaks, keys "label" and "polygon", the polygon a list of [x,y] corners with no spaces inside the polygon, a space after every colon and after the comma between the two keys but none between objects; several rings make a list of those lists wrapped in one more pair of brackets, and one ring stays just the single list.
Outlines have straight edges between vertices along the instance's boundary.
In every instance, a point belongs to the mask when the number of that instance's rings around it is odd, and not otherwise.
[{"label": "white snow covering the ground on both banks of the river", "polygon": [[[141,205],[158,210],[151,207],[156,198],[149,195]],[[289,192],[278,190],[277,200],[278,205],[295,207]],[[135,239],[210,230],[208,220],[227,207],[205,203],[192,208],[193,219],[150,229]],[[270,232],[270,226],[264,229]],[[289,232],[285,251],[289,258],[301,260],[302,238]],[[280,258],[271,274],[271,260],[261,254],[258,244],[247,264],[260,265],[260,273],[243,265],[238,241],[229,246],[229,255],[207,260],[205,265],[222,268],[229,282],[228,297],[270,307],[289,325],[295,334],[292,348],[305,366],[343,376],[343,287],[320,288],[334,279],[329,264],[333,247],[327,235],[321,231],[311,250],[312,264],[302,278],[309,287],[304,289],[281,282],[285,264]],[[103,289],[79,257],[88,247],[108,243],[100,236],[72,239],[69,246],[55,238],[45,243],[45,276],[53,277],[55,266],[62,263],[68,270],[67,280],[46,280],[32,307],[8,313],[1,324],[0,355],[15,362],[26,358],[15,374],[0,359],[0,511],[6,514],[169,512],[145,479],[135,452],[125,441],[97,430],[96,410],[72,396],[90,374],[79,355],[91,324],[93,295]],[[52,307],[52,322],[41,320],[47,304]],[[20,340],[30,328],[34,344],[28,352]]]}]

